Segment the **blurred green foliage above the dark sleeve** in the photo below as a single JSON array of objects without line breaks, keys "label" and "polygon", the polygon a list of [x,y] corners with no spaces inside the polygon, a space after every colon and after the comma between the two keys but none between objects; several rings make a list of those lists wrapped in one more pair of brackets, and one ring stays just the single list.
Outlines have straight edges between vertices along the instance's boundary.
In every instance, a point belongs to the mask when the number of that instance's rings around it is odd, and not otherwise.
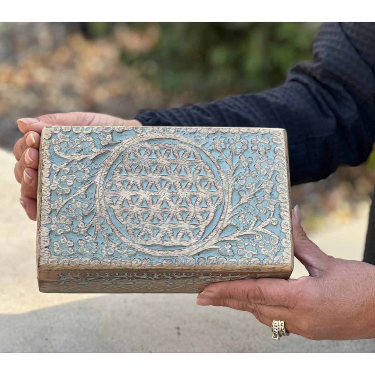
[{"label": "blurred green foliage above the dark sleeve", "polygon": [[129,33],[154,38],[138,49],[125,45],[121,58],[142,67],[168,102],[176,95],[208,101],[281,84],[296,63],[311,59],[320,23],[86,23],[85,30],[88,37],[110,37],[121,26],[128,39]]}]

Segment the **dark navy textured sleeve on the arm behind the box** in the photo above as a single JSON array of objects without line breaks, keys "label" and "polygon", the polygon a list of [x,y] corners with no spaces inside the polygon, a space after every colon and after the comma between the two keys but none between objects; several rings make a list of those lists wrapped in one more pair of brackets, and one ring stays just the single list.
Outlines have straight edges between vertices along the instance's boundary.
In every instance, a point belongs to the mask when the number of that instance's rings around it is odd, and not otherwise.
[{"label": "dark navy textured sleeve on the arm behind the box", "polygon": [[375,23],[324,24],[312,62],[294,67],[275,89],[135,118],[144,126],[284,128],[292,184],[358,165],[375,141]]}]

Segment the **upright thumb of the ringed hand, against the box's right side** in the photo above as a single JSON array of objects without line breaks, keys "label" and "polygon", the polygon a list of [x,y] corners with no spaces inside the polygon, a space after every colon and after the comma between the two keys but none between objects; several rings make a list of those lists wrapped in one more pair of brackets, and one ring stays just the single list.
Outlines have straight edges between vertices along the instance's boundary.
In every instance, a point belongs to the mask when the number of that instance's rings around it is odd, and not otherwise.
[{"label": "upright thumb of the ringed hand, against the box's right side", "polygon": [[322,275],[329,256],[312,242],[301,226],[301,212],[298,205],[292,210],[294,255],[314,277]]}]

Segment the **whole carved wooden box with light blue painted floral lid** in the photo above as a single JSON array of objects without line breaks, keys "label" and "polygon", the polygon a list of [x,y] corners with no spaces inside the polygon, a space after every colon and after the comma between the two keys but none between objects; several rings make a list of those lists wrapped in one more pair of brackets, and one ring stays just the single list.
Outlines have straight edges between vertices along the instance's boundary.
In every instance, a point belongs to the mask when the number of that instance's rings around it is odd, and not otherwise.
[{"label": "whole carved wooden box with light blue painted floral lid", "polygon": [[37,266],[52,293],[198,293],[293,270],[286,132],[45,127]]}]

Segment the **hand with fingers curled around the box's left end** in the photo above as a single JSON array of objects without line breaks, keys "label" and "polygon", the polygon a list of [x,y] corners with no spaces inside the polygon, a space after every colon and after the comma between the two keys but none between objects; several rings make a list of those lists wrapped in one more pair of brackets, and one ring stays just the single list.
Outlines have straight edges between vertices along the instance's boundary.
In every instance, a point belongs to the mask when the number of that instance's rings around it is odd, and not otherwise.
[{"label": "hand with fingers curled around the box's left end", "polygon": [[18,127],[24,136],[13,147],[17,163],[16,180],[21,184],[21,205],[28,217],[36,220],[36,199],[40,133],[45,126],[142,126],[138,120],[88,112],[55,113],[36,118],[20,118]]}]

